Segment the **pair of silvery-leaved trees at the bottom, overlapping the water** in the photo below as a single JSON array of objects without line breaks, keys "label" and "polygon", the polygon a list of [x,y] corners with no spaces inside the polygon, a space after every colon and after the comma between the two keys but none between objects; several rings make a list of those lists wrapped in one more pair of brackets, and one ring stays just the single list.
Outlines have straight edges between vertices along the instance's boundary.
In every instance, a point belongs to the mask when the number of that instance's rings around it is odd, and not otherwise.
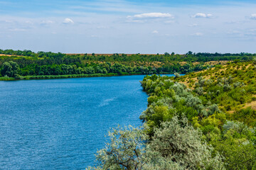
[{"label": "pair of silvery-leaved trees at the bottom, overlapping the water", "polygon": [[188,120],[162,123],[149,140],[137,128],[117,128],[109,133],[110,143],[97,153],[97,167],[89,169],[224,169],[221,157],[201,140],[201,131]]}]

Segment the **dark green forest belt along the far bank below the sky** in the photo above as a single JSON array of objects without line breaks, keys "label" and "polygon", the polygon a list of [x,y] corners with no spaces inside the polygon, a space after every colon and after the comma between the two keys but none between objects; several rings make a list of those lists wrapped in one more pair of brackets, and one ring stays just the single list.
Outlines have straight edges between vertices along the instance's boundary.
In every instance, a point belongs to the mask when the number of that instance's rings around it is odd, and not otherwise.
[{"label": "dark green forest belt along the far bank below the sky", "polygon": [[[0,50],[0,80],[55,79],[132,74],[186,74],[228,61],[250,61],[256,54],[96,55]],[[212,63],[213,62],[213,63]]]}]

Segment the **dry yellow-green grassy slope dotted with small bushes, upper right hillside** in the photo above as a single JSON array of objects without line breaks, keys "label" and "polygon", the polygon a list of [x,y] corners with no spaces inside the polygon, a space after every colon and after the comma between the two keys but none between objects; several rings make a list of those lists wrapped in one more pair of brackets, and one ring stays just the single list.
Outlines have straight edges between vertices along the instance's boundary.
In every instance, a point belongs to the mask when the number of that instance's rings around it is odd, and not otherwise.
[{"label": "dry yellow-green grassy slope dotted with small bushes, upper right hillside", "polygon": [[175,81],[193,89],[204,102],[218,103],[222,111],[234,113],[249,106],[256,109],[255,69],[255,62],[229,62]]}]

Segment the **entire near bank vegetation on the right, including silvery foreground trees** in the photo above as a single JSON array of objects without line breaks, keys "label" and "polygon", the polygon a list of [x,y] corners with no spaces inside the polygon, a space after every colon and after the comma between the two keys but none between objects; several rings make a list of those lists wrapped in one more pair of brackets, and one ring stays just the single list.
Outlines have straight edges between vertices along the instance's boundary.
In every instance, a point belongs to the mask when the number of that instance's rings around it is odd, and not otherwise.
[{"label": "entire near bank vegetation on the right, including silvery foreground trees", "polygon": [[146,76],[142,128],[114,128],[87,169],[256,169],[256,60]]}]

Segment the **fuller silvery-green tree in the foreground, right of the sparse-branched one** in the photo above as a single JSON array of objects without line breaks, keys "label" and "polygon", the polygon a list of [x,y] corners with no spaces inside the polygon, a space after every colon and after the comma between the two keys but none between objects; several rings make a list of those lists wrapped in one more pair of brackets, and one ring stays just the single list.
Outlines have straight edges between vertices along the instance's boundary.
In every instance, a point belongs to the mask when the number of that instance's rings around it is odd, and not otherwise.
[{"label": "fuller silvery-green tree in the foreground, right of the sparse-branched one", "polygon": [[162,123],[161,128],[156,128],[154,134],[150,147],[162,157],[186,169],[224,169],[220,156],[212,157],[213,147],[201,140],[201,131],[188,125],[187,118],[178,120],[175,116]]}]

